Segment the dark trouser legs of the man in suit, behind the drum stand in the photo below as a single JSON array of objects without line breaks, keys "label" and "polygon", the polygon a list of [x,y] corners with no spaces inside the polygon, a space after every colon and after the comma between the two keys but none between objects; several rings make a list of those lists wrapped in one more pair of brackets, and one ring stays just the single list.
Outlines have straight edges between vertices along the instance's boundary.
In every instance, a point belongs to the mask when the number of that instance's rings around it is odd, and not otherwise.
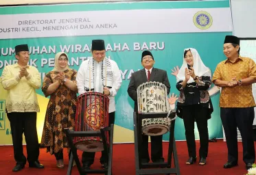
[{"label": "dark trouser legs of the man in suit, behind the drum stand", "polygon": [[[148,154],[148,135],[142,135],[141,142],[141,159],[143,161],[150,161],[150,156]],[[159,160],[163,160],[163,146],[162,140],[163,135],[150,136],[151,139],[151,160],[152,162],[156,162]]]}]

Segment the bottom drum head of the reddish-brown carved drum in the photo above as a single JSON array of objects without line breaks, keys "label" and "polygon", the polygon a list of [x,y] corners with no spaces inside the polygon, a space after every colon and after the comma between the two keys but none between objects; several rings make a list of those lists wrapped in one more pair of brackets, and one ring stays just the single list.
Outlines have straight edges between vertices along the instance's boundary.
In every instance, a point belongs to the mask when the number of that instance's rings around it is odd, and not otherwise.
[{"label": "bottom drum head of the reddish-brown carved drum", "polygon": [[100,141],[82,141],[75,144],[75,147],[78,150],[82,150],[85,152],[99,152],[104,150],[103,143]]}]

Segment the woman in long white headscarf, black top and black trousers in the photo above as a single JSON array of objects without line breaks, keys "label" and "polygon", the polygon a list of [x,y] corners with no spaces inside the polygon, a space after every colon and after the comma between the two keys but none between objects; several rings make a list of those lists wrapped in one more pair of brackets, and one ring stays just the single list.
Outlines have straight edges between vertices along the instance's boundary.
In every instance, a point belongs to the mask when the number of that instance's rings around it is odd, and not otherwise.
[{"label": "woman in long white headscarf, black top and black trousers", "polygon": [[211,86],[211,70],[203,64],[196,49],[184,50],[183,65],[176,79],[176,87],[180,91],[176,112],[178,117],[183,118],[189,152],[186,164],[191,165],[196,162],[194,134],[196,121],[200,135],[199,165],[205,165],[209,145],[207,120],[211,118],[213,112],[211,98],[207,91]]}]

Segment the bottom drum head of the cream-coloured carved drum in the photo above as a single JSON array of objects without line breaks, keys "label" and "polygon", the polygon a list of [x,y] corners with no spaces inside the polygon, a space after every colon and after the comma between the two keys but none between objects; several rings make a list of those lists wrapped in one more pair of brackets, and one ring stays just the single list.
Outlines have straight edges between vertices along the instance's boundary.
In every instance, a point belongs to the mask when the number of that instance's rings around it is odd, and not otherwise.
[{"label": "bottom drum head of the cream-coloured carved drum", "polygon": [[163,135],[170,131],[164,124],[150,124],[142,127],[142,133],[149,136]]}]

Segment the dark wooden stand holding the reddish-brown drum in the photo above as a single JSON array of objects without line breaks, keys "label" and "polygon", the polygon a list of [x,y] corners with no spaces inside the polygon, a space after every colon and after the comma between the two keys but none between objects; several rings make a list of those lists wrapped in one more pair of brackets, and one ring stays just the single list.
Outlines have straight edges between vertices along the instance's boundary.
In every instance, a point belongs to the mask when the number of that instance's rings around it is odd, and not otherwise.
[{"label": "dark wooden stand holding the reddish-brown drum", "polygon": [[[106,144],[106,136],[105,131],[110,132],[109,138],[109,148]],[[69,142],[69,147],[71,148],[71,157],[69,160],[69,168],[67,170],[67,175],[71,174],[72,167],[73,167],[73,159],[75,159],[76,166],[78,167],[79,174],[112,174],[112,154],[113,154],[113,131],[114,131],[114,124],[110,124],[110,127],[105,127],[100,129],[100,131],[73,131],[70,129],[65,129],[65,133],[67,135],[67,139]],[[104,151],[106,152],[106,158],[108,160],[108,169],[104,170],[84,170],[81,166],[81,163],[78,158],[77,148],[73,144],[73,137],[93,137],[93,136],[100,136],[102,137],[102,143],[104,146]],[[107,153],[109,149],[109,154]]]}]

